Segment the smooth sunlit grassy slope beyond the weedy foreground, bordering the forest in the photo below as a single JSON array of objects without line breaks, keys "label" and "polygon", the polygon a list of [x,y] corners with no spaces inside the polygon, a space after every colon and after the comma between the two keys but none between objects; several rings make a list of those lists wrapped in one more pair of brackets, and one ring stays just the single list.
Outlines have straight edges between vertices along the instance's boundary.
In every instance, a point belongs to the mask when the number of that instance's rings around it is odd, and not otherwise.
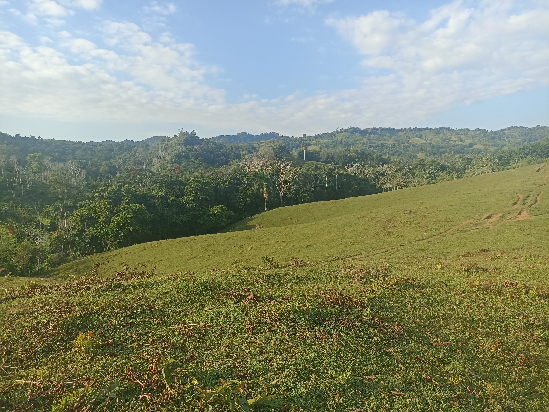
[{"label": "smooth sunlit grassy slope beyond the weedy foreground, bordering the forest", "polygon": [[[425,187],[278,208],[237,223],[226,233],[149,242],[100,253],[65,264],[50,275],[80,274],[96,263],[103,263],[103,273],[111,273],[124,262],[173,272],[228,269],[235,259],[256,266],[264,256],[284,263],[292,257],[313,262],[337,258],[362,261],[380,253],[414,258],[418,251],[425,250],[443,257],[456,247],[467,247],[472,239],[485,246],[536,247],[548,239],[545,231],[535,228],[546,224],[545,214],[549,211],[549,202],[529,206],[546,184],[544,178],[549,173],[549,167],[535,172],[537,169],[524,167]],[[513,206],[517,193],[522,201]],[[532,218],[506,220],[522,210]],[[500,213],[501,218],[496,221],[484,219]],[[456,228],[463,222],[469,223]],[[256,225],[263,228],[248,230]]]}]

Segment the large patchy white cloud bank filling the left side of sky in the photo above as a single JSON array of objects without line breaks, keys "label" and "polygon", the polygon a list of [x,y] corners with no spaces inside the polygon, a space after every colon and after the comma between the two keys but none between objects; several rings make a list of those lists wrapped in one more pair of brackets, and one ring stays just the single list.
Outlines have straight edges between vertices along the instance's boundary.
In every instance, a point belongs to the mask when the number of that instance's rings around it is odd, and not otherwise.
[{"label": "large patchy white cloud bank filling the left side of sky", "polygon": [[[152,42],[129,23],[107,21],[106,37],[128,53],[60,33],[60,46],[86,61],[71,65],[51,47],[31,47],[0,31],[0,112],[58,120],[168,120],[222,105],[225,92],[203,82],[213,69],[192,59],[192,46]],[[18,103],[10,107],[9,101]]]}]

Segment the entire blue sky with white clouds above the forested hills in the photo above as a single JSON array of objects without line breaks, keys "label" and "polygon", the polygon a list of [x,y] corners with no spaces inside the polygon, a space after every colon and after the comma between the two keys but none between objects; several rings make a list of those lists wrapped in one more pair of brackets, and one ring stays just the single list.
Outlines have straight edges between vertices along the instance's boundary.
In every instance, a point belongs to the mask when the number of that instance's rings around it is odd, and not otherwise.
[{"label": "entire blue sky with white clouds above the forested hills", "polygon": [[0,0],[0,131],[549,125],[548,0]]}]

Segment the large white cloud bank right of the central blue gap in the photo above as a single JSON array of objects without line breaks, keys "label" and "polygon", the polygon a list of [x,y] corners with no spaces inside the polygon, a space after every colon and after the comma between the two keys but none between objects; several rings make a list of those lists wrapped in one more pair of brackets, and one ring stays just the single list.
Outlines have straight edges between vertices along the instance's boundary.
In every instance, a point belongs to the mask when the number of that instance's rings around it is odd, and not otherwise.
[{"label": "large white cloud bank right of the central blue gap", "polygon": [[[516,13],[517,6],[527,9]],[[480,1],[472,8],[457,1],[424,22],[378,11],[327,24],[365,55],[365,66],[393,71],[365,85],[385,83],[395,109],[416,103],[413,115],[549,84],[544,2]]]}]

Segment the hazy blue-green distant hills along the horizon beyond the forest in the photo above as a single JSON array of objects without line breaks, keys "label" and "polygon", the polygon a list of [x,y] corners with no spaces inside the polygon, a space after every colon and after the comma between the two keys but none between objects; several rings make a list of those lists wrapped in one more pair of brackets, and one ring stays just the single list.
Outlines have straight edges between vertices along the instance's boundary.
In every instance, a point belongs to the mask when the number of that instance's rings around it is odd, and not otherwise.
[{"label": "hazy blue-green distant hills along the horizon beyond the forest", "polygon": [[[363,145],[371,148],[375,147],[377,148],[376,150],[383,152],[385,155],[400,156],[401,154],[397,154],[396,152],[393,153],[394,150],[389,153],[386,152],[385,149],[398,149],[397,151],[400,153],[400,151],[405,150],[410,146],[411,149],[417,149],[413,151],[442,155],[444,153],[461,153],[460,150],[456,151],[455,149],[463,147],[475,150],[489,150],[492,151],[492,153],[495,153],[505,147],[518,147],[525,143],[537,142],[547,136],[549,136],[549,127],[547,126],[536,126],[531,128],[512,126],[497,131],[468,128],[452,129],[449,127],[401,129],[390,127],[365,129],[349,127],[337,129],[332,132],[318,133],[314,136],[289,137],[276,132],[265,132],[261,134],[240,132],[237,134],[220,134],[219,136],[212,137],[208,140],[226,145],[281,139],[285,144],[292,146],[292,148],[294,146],[300,146],[301,140],[306,140],[309,142],[309,146],[319,145],[319,148],[317,148],[318,150],[343,147],[351,148],[351,146]],[[83,143],[71,140],[42,139],[41,137],[36,138],[32,135],[27,137],[21,136],[19,133],[15,136],[11,136],[7,133],[0,132],[0,147],[2,144],[7,144],[18,147],[26,153],[42,153],[54,157],[58,155],[60,157],[57,161],[61,161],[61,157],[65,157],[69,152],[74,154],[76,153],[75,150],[79,150],[79,148],[84,148],[85,146],[105,146],[105,150],[108,151],[121,150],[124,147],[131,150],[142,144],[152,146],[163,141],[167,142],[170,139],[172,138],[169,136],[152,136],[144,140],[138,140],[137,142],[134,140],[124,140],[122,142],[103,140],[102,142]],[[117,149],[114,149],[115,147]],[[450,151],[447,151],[446,149]],[[469,152],[467,151],[467,153]]]}]

